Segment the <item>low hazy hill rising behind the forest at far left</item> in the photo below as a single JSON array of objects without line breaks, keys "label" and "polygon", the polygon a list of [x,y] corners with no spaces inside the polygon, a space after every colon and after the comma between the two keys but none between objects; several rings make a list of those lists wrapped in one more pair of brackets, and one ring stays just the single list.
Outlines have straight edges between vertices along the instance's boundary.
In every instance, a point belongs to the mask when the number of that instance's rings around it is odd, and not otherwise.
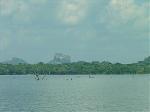
[{"label": "low hazy hill rising behind the forest at far left", "polygon": [[23,59],[13,57],[11,60],[7,60],[2,62],[3,64],[12,64],[12,65],[18,65],[18,64],[27,64]]}]

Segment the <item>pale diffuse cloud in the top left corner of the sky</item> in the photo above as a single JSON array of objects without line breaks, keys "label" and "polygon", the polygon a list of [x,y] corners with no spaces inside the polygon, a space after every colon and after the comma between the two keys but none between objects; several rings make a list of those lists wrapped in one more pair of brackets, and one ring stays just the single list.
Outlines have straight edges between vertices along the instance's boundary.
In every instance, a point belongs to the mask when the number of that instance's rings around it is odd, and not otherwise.
[{"label": "pale diffuse cloud in the top left corner of the sky", "polygon": [[29,20],[33,15],[33,8],[46,2],[47,0],[0,0],[0,16],[11,16],[15,19]]}]

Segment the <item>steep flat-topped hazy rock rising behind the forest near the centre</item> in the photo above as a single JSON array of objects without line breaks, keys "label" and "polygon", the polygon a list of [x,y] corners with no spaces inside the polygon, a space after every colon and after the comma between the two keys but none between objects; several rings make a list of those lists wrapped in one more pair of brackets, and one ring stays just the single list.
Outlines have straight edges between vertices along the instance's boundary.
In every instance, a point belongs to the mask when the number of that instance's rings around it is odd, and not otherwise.
[{"label": "steep flat-topped hazy rock rising behind the forest near the centre", "polygon": [[53,60],[49,64],[65,64],[71,63],[71,57],[62,53],[56,53]]}]

